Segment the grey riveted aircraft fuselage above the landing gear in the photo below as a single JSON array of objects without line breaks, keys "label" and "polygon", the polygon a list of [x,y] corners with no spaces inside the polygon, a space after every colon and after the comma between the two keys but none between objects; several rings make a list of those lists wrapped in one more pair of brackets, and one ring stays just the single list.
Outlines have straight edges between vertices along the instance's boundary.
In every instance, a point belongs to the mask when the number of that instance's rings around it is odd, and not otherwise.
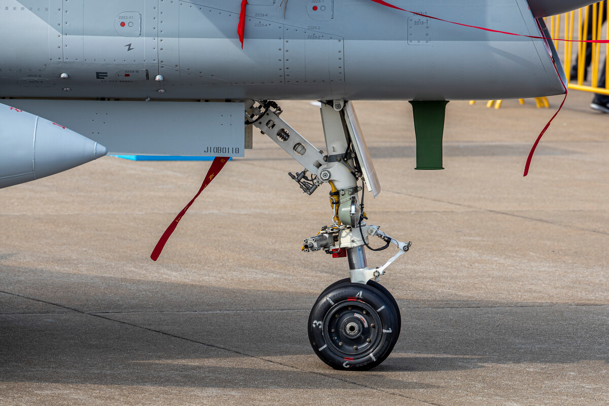
[{"label": "grey riveted aircraft fuselage above the landing gear", "polygon": [[[563,93],[563,71],[544,40],[370,0],[290,0],[285,18],[277,2],[252,1],[243,49],[239,1],[6,2],[0,97],[455,100]],[[526,0],[392,4],[540,35]]]}]

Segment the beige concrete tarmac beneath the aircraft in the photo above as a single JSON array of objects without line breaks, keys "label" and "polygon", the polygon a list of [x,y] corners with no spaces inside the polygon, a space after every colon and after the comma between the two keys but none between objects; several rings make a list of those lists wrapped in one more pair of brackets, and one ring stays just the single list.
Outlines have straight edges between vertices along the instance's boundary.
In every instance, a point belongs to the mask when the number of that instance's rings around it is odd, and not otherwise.
[{"label": "beige concrete tarmac beneath the aircraft", "polygon": [[[335,371],[309,346],[345,259],[300,251],[329,223],[272,141],[234,159],[183,218],[208,162],[105,157],[0,190],[0,405],[609,404],[609,115],[571,92],[451,102],[442,171],[417,171],[407,102],[358,102],[382,192],[373,224],[412,240],[382,277],[390,357]],[[284,119],[323,148],[317,108]],[[381,265],[394,250],[370,253]]]}]

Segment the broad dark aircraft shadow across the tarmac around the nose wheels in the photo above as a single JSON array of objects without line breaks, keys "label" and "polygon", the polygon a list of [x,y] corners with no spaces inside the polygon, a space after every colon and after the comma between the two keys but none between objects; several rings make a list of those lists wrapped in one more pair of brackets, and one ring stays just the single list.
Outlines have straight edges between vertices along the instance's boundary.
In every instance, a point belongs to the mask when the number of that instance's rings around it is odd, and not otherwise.
[{"label": "broad dark aircraft shadow across the tarmac around the nose wheels", "polygon": [[[37,307],[40,302],[0,295],[0,309],[5,309],[0,314],[4,382],[223,388],[337,385],[317,382],[318,377],[308,372],[333,373],[315,357],[306,335],[314,295],[7,266],[0,267],[0,279],[4,292],[44,301],[45,306],[65,306],[60,313],[62,307],[48,312]],[[16,301],[19,307],[13,306]],[[409,305],[401,306],[403,326],[393,355],[371,373],[609,360],[609,315],[604,306],[472,306],[466,301],[452,301],[451,307]],[[6,312],[12,308],[18,311]],[[253,365],[245,368],[241,363]],[[255,380],[249,379],[252,374]],[[404,385],[409,383],[382,380],[388,389]]]}]

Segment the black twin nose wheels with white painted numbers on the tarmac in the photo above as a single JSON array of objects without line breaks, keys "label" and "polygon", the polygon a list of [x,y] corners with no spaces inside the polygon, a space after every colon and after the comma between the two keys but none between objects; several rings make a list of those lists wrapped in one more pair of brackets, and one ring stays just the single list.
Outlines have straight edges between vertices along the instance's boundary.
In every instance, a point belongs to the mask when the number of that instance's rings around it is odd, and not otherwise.
[{"label": "black twin nose wheels with white painted numbers on the tarmac", "polygon": [[339,282],[328,287],[311,309],[311,346],[334,369],[374,368],[398,341],[395,301],[376,287]]}]

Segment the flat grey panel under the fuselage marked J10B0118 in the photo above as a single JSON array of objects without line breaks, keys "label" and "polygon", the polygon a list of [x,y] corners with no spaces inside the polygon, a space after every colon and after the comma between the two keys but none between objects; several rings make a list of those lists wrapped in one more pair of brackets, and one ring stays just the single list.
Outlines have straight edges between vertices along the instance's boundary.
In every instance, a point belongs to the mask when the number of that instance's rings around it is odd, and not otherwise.
[{"label": "flat grey panel under the fuselage marked J10B0118", "polygon": [[10,100],[116,155],[244,156],[244,103]]}]

